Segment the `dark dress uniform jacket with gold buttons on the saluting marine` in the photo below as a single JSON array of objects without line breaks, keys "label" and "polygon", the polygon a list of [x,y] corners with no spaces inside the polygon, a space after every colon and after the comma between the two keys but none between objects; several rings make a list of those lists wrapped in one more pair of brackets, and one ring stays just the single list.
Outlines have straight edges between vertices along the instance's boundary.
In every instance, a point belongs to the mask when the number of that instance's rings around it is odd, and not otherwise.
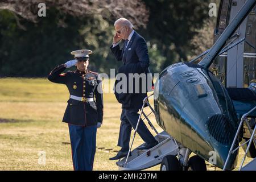
[{"label": "dark dress uniform jacket with gold buttons on the saluting marine", "polygon": [[[48,75],[48,80],[65,84],[69,94],[77,97],[96,98],[93,102],[82,102],[69,98],[63,122],[78,126],[95,126],[102,123],[103,118],[103,92],[102,82],[98,74],[92,71],[68,71],[61,73],[66,68],[59,65]],[[100,92],[98,92],[98,90]]]}]

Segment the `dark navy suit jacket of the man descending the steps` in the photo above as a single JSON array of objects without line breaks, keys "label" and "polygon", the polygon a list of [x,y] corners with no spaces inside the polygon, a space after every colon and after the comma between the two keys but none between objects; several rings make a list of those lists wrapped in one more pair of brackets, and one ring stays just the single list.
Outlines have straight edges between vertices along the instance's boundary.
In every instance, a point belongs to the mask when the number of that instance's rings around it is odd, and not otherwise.
[{"label": "dark navy suit jacket of the man descending the steps", "polygon": [[[137,32],[134,32],[125,51],[123,51],[124,48],[120,49],[119,45],[115,47],[111,46],[110,49],[114,53],[115,59],[117,59],[118,61],[123,61],[123,65],[118,69],[118,73],[124,73],[125,75],[127,75],[127,78],[129,73],[149,73],[148,67],[150,65],[150,60],[148,57],[147,44],[144,38]],[[118,81],[115,81],[115,85],[117,84],[117,82]],[[130,80],[128,80],[128,83],[129,82]],[[115,92],[115,97],[117,97],[118,102],[122,104],[122,108],[141,109],[143,99],[147,97],[147,93],[141,92],[143,90],[141,81],[139,83],[139,86],[139,93],[118,94],[117,92]],[[127,89],[129,89],[128,84]],[[146,91],[151,90],[146,88]]]}]

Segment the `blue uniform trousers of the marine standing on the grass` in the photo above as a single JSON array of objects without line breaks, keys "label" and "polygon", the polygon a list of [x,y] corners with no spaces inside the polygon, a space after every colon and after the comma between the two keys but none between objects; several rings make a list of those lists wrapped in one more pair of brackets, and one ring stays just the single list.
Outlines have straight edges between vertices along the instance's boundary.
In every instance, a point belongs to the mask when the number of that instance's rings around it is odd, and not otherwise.
[{"label": "blue uniform trousers of the marine standing on the grass", "polygon": [[92,171],[96,152],[97,126],[68,125],[75,171]]}]

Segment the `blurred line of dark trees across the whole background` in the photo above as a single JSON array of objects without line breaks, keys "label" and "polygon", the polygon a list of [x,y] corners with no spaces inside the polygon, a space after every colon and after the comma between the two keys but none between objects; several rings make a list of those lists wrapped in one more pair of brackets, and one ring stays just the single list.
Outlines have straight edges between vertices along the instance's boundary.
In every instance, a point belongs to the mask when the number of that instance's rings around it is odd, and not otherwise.
[{"label": "blurred line of dark trees across the whole background", "polygon": [[[81,48],[93,51],[90,69],[109,73],[122,64],[109,48],[114,21],[121,17],[147,40],[151,71],[161,72],[195,56],[203,46],[195,40],[201,41],[209,18],[209,0],[45,0],[47,13],[42,18],[40,2],[0,2],[0,76],[46,76]],[[208,31],[204,36],[210,40],[213,33]]]}]

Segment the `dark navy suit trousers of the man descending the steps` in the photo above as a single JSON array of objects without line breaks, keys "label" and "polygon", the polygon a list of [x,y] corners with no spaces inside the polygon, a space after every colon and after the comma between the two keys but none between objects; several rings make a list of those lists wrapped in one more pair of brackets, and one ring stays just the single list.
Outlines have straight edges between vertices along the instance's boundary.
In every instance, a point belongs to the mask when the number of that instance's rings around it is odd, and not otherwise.
[{"label": "dark navy suit trousers of the man descending the steps", "polygon": [[[121,114],[121,125],[119,131],[119,138],[117,146],[122,147],[122,151],[129,150],[129,143],[131,137],[131,127],[136,129],[137,122],[139,119],[138,109],[122,109]],[[154,136],[150,133],[147,129],[144,122],[139,122],[139,127],[137,130],[139,136],[144,140],[146,143],[155,142]]]}]

